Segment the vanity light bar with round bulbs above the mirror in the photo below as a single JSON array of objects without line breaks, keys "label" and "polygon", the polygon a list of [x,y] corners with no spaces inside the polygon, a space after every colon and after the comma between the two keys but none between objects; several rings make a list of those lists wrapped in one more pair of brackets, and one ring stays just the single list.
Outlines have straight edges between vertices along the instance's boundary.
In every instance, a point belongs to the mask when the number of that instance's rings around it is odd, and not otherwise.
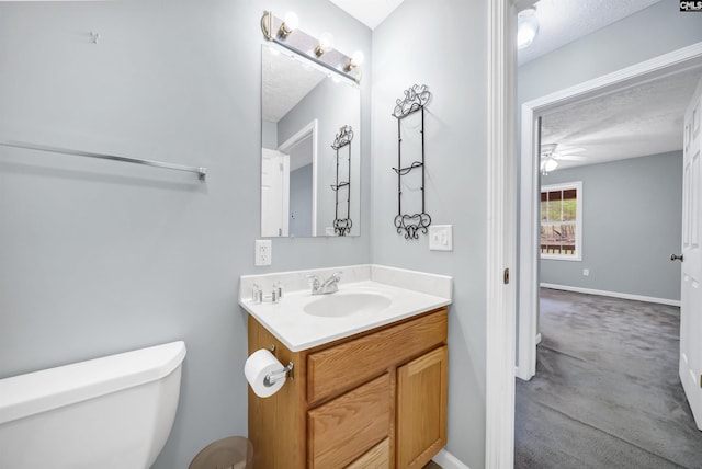
[{"label": "vanity light bar with round bulbs above the mirror", "polygon": [[[356,83],[361,81],[359,66],[363,61],[363,53],[358,52],[353,54],[353,57],[349,57],[333,48],[331,33],[325,33],[317,39],[297,30],[297,15],[294,13],[287,13],[281,20],[273,15],[273,12],[267,11],[261,18],[261,31],[267,41],[285,47]],[[292,34],[293,31],[295,34]]]}]

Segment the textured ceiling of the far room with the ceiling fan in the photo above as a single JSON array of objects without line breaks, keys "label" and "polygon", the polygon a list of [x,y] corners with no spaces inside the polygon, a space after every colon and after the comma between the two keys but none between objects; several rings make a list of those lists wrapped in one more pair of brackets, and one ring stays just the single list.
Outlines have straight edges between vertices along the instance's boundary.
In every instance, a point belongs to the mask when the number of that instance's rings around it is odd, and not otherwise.
[{"label": "textured ceiling of the far room with the ceiling fan", "polygon": [[559,106],[544,114],[542,144],[575,152],[559,169],[682,149],[684,110],[702,78],[702,64],[634,84],[604,96]]}]

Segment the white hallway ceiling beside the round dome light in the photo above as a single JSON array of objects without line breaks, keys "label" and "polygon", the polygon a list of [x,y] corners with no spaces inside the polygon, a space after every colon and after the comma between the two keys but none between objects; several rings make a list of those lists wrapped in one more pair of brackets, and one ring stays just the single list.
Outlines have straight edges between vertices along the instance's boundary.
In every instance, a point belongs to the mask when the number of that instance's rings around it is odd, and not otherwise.
[{"label": "white hallway ceiling beside the round dome light", "polygon": [[540,0],[539,34],[519,50],[519,65],[555,50],[660,0]]}]

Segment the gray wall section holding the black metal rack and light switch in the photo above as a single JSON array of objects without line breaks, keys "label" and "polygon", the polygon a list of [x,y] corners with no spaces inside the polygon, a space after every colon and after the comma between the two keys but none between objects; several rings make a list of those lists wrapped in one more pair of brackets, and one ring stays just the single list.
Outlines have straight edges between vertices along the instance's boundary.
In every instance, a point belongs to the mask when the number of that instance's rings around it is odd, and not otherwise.
[{"label": "gray wall section holding the black metal rack and light switch", "polygon": [[[448,450],[485,466],[487,10],[483,1],[405,0],[373,33],[372,258],[454,277],[449,311]],[[412,84],[427,106],[427,213],[453,225],[453,252],[405,240],[397,215],[395,101]],[[407,207],[408,210],[414,207]],[[414,213],[414,211],[412,211]]]}]

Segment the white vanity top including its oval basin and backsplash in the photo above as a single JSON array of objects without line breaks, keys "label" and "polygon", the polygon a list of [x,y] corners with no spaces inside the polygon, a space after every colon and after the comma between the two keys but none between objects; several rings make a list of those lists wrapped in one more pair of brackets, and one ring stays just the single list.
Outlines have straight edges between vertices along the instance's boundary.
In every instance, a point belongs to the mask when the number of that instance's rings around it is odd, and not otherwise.
[{"label": "white vanity top including its oval basin and backsplash", "polygon": [[[312,295],[309,275],[328,278],[339,271],[337,293]],[[269,294],[281,284],[283,296],[272,302]],[[251,299],[254,285],[267,294],[262,302]],[[329,267],[241,276],[239,305],[291,352],[302,352],[446,306],[451,285],[445,275],[377,265]]]}]

